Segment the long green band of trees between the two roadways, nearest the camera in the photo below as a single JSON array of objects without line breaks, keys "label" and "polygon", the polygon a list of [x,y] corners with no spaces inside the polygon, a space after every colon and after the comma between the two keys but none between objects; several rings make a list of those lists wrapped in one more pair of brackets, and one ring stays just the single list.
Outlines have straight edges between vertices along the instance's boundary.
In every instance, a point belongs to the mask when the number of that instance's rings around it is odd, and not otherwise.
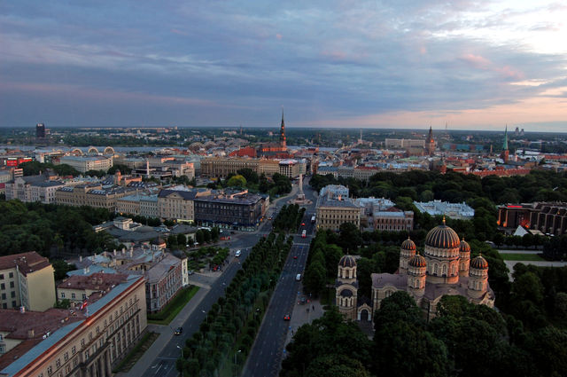
[{"label": "long green band of trees between the two roadways, nearest the camera", "polygon": [[[260,327],[261,314],[268,305],[291,245],[291,237],[270,233],[252,247],[250,255],[207,313],[206,322],[185,342],[177,369],[184,375],[218,375],[232,356],[242,365]],[[261,306],[260,310],[255,310]],[[239,350],[240,352],[237,352]]]}]

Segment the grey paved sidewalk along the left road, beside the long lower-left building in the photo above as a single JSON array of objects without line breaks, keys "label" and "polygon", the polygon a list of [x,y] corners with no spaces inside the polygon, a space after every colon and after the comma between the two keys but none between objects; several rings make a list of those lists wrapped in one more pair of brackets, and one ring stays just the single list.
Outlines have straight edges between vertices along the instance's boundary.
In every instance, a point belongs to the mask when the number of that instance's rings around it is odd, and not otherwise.
[{"label": "grey paved sidewalk along the left road, beside the long lower-left building", "polygon": [[[177,317],[175,317],[175,319],[171,321],[169,326],[148,325],[147,327],[148,331],[151,331],[153,333],[158,333],[159,338],[156,339],[156,341],[153,342],[153,344],[151,344],[151,347],[145,351],[144,356],[140,357],[140,359],[136,362],[136,365],[132,366],[132,369],[130,369],[128,372],[116,373],[114,375],[124,376],[124,377],[141,376],[148,369],[150,369],[151,364],[154,363],[155,357],[158,357],[159,353],[161,353],[161,350],[163,350],[164,347],[166,347],[167,343],[171,342],[171,339],[174,336],[173,329],[175,327],[179,327],[183,325],[183,323],[187,320],[187,318],[189,318],[193,310],[195,310],[197,305],[201,302],[201,300],[203,300],[203,297],[206,296],[208,291],[209,291],[208,288],[200,287],[197,294],[195,294],[191,298],[190,302],[187,302],[187,305],[183,307],[183,309],[179,312]],[[146,355],[148,357],[145,357]]]}]

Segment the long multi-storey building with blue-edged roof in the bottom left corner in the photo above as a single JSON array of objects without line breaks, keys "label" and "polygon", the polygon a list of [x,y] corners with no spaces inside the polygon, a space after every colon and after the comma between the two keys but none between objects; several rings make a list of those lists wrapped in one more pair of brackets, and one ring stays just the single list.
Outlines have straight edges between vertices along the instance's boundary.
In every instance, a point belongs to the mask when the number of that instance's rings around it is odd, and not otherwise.
[{"label": "long multi-storey building with blue-edged roof in the bottom left corner", "polygon": [[[145,284],[141,276],[100,274],[82,277],[87,295],[69,310],[0,310],[0,333],[10,342],[0,358],[0,375],[22,377],[112,376],[147,326]],[[77,281],[79,281],[78,279]],[[113,284],[109,285],[109,280]]]}]

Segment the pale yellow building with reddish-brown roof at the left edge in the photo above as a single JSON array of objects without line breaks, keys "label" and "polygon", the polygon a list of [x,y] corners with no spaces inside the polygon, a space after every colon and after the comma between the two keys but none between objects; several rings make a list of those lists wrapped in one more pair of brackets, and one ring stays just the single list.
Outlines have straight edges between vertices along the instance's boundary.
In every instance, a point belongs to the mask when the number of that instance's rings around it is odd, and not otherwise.
[{"label": "pale yellow building with reddish-brown roof at the left edge", "polygon": [[2,309],[47,310],[55,303],[55,280],[49,260],[30,251],[0,257]]}]

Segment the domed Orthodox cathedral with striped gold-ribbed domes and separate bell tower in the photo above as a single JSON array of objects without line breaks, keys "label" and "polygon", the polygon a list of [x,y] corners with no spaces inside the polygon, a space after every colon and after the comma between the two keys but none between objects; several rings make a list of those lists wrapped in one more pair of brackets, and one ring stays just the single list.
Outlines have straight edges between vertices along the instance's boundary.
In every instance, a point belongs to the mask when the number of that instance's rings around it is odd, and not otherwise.
[{"label": "domed Orthodox cathedral with striped gold-ribbed domes and separate bell tower", "polygon": [[373,273],[372,297],[358,299],[356,260],[345,255],[338,262],[336,304],[350,320],[371,321],[380,302],[396,291],[414,297],[427,318],[437,313],[444,295],[462,295],[470,302],[494,306],[494,293],[488,285],[488,263],[482,255],[470,260],[470,246],[445,224],[427,233],[423,255],[416,244],[405,240],[400,248],[400,267],[395,273]]}]

